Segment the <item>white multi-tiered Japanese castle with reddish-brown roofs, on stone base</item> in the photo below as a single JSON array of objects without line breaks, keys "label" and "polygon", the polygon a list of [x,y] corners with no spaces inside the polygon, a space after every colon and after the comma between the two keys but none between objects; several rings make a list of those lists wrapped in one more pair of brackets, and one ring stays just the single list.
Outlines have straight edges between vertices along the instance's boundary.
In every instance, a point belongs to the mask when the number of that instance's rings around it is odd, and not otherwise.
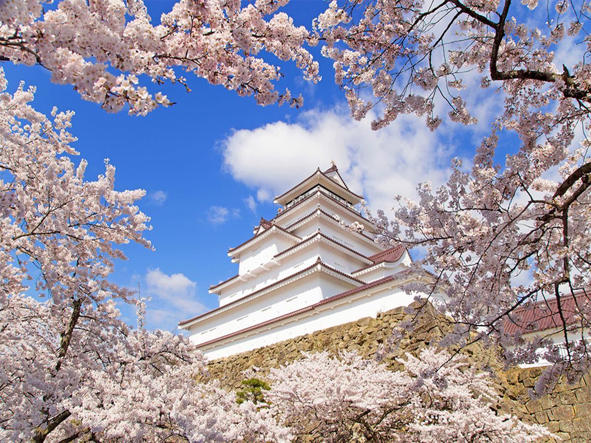
[{"label": "white multi-tiered Japanese castle with reddish-brown roofs, on stone base", "polygon": [[275,197],[277,216],[228,251],[238,274],[210,286],[219,307],[178,327],[218,359],[409,305],[417,294],[401,285],[431,276],[408,269],[404,246],[374,241],[362,199],[334,163]]}]

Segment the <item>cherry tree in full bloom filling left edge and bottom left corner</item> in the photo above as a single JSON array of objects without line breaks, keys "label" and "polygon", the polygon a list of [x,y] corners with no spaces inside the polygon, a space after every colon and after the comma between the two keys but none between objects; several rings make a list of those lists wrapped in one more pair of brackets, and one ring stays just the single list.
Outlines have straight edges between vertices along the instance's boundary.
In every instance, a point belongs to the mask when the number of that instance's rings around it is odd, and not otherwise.
[{"label": "cherry tree in full bloom filling left edge and bottom left corner", "polygon": [[[144,191],[116,191],[108,161],[86,180],[73,113],[35,111],[34,92],[11,95],[0,71],[0,439],[289,439],[271,411],[195,382],[186,338],[142,327],[142,302],[108,278],[117,245],[151,247]],[[118,302],[138,305],[138,330]]]}]

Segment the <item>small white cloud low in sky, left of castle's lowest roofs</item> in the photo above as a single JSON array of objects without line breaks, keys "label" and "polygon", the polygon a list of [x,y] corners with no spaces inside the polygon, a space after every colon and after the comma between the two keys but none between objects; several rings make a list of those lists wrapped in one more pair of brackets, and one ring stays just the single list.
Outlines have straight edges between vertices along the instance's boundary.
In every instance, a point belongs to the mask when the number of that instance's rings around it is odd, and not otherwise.
[{"label": "small white cloud low in sky, left of castle's lowest roofs", "polygon": [[200,314],[206,307],[197,301],[197,284],[183,273],[167,275],[160,268],[148,269],[143,295],[151,300],[147,306],[148,324],[172,330],[179,320]]}]

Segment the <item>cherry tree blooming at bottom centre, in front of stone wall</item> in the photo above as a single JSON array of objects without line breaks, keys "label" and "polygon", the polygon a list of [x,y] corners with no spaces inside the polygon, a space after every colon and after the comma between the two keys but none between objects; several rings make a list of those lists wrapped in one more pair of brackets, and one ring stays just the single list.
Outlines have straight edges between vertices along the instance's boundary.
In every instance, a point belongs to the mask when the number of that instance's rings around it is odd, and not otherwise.
[{"label": "cherry tree blooming at bottom centre, in front of stone wall", "polygon": [[468,369],[446,351],[407,354],[404,370],[356,353],[322,352],[272,369],[271,408],[296,435],[323,441],[535,441],[540,425],[496,413],[499,401],[486,373]]}]

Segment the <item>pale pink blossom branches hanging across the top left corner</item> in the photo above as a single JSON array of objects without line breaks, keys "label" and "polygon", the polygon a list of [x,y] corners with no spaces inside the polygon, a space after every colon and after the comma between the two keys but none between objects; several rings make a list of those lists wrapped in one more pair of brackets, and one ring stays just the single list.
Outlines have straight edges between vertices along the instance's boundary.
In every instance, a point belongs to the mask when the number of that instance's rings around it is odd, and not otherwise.
[{"label": "pale pink blossom branches hanging across the top left corner", "polygon": [[259,0],[242,8],[239,0],[180,0],[154,21],[142,0],[61,0],[55,7],[47,0],[7,0],[0,4],[0,58],[40,64],[54,82],[71,84],[109,112],[129,105],[129,113],[145,115],[171,105],[139,79],[190,90],[180,70],[254,95],[260,105],[301,106],[301,96],[275,90],[280,68],[258,55],[291,60],[306,79],[319,80],[318,65],[303,48],[309,32],[277,12],[285,3]]}]

